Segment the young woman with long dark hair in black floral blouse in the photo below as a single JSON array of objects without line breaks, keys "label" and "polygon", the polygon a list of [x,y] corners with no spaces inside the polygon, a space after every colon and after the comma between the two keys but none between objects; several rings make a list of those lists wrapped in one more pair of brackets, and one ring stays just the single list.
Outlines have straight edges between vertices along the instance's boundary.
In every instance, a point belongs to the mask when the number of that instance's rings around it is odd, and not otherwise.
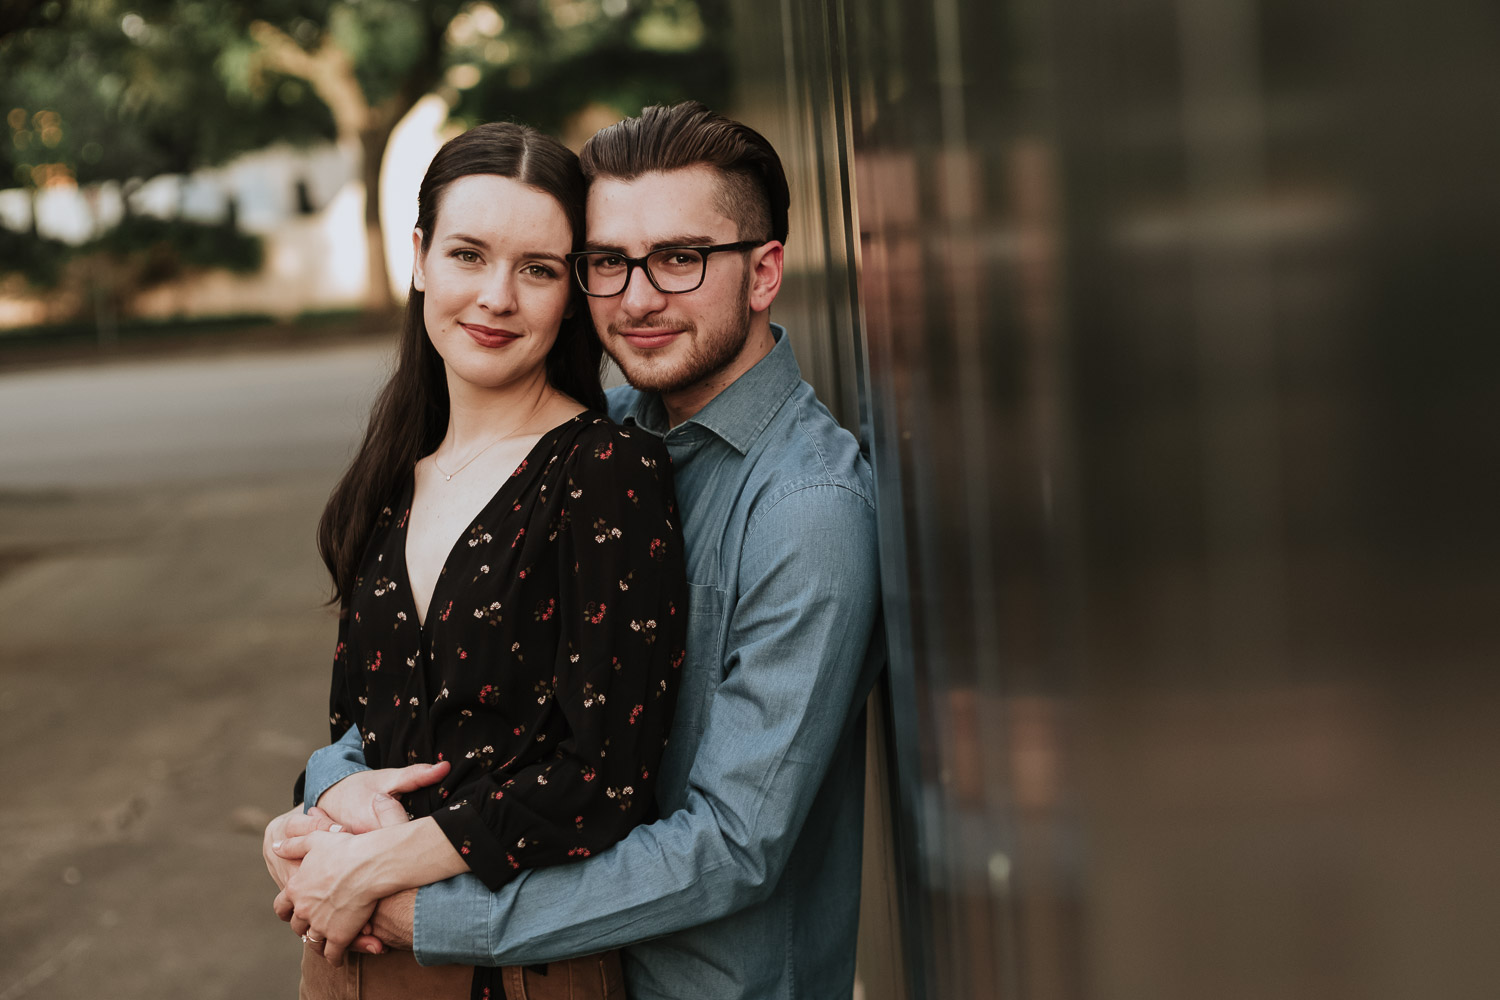
[{"label": "young woman with long dark hair in black floral blouse", "polygon": [[[576,157],[524,126],[465,132],[422,181],[398,369],[318,541],[342,612],[334,739],[357,727],[370,768],[438,768],[406,789],[414,822],[370,829],[339,784],[320,801],[368,832],[312,834],[286,873],[304,997],[512,996],[516,970],[324,952],[387,895],[466,870],[498,888],[652,814],[682,547],[666,451],[598,412],[566,259],[582,234]],[[622,996],[618,957],[576,961],[597,993],[568,996]]]}]

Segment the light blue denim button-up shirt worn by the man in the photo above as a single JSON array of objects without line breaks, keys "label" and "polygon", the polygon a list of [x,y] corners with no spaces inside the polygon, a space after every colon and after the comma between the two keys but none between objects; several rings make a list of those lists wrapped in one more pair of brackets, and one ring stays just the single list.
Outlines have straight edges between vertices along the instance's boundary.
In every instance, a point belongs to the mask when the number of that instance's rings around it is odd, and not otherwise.
[{"label": "light blue denim button-up shirt worn by the man", "polygon": [[[610,415],[663,438],[687,540],[690,624],[662,817],[588,861],[498,892],[417,894],[423,964],[534,964],[626,949],[633,1000],[830,1000],[854,984],[864,829],[862,699],[879,579],[870,468],[777,343],[668,429],[660,397]],[[357,733],[356,733],[357,744]],[[308,763],[308,801],[364,766]]]}]

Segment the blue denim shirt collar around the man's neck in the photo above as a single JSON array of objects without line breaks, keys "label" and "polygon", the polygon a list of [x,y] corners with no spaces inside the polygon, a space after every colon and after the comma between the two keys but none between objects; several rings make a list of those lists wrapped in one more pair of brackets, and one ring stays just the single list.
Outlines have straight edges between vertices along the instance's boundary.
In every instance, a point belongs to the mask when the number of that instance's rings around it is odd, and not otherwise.
[{"label": "blue denim shirt collar around the man's neck", "polygon": [[771,336],[776,345],[770,354],[676,427],[668,426],[666,406],[657,393],[640,393],[626,423],[633,423],[658,438],[681,433],[684,427],[698,424],[723,438],[740,454],[746,454],[776,411],[802,381],[786,330],[772,322]]}]

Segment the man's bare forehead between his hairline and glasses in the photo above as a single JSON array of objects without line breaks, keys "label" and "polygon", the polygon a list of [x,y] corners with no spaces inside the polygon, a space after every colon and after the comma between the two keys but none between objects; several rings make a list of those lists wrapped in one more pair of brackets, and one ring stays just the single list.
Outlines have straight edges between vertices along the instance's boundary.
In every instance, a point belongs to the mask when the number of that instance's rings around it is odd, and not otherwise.
[{"label": "man's bare forehead between his hairline and glasses", "polygon": [[724,214],[722,178],[711,166],[598,177],[588,189],[588,240],[651,241],[668,232],[718,232],[736,226]]}]

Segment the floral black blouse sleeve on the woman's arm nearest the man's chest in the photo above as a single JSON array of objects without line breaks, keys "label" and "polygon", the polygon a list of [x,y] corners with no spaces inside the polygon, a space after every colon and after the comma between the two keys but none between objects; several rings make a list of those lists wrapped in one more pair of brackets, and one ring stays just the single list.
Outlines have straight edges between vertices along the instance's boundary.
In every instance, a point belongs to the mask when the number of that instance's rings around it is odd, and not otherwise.
[{"label": "floral black blouse sleeve on the woman's arm nearest the man's chest", "polygon": [[687,631],[670,463],[644,432],[610,427],[579,444],[566,490],[552,697],[567,736],[434,814],[490,889],[588,858],[656,814]]}]

